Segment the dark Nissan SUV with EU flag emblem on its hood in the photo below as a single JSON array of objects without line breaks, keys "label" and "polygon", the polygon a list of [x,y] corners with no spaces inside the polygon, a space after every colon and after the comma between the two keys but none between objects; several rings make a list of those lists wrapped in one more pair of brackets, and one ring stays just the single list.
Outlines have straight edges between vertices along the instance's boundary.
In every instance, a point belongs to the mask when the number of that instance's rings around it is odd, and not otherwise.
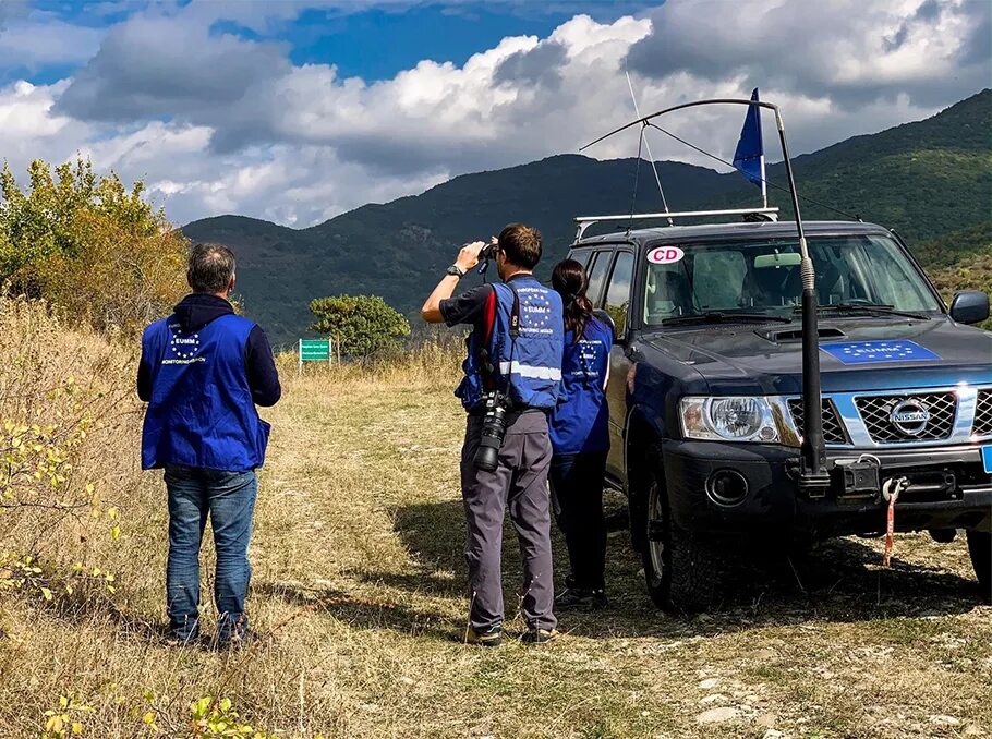
[{"label": "dark Nissan SUV with EU flag emblem on its hood", "polygon": [[[885,481],[904,480],[897,531],[965,530],[992,591],[992,335],[983,293],[948,310],[879,226],[808,222],[816,271],[831,485],[800,493],[800,254],[793,222],[673,226],[580,238],[570,257],[616,324],[610,484],[652,599],[704,609],[730,541],[811,542],[885,531]],[[581,232],[580,232],[581,233]],[[873,460],[874,482],[856,470]]]}]

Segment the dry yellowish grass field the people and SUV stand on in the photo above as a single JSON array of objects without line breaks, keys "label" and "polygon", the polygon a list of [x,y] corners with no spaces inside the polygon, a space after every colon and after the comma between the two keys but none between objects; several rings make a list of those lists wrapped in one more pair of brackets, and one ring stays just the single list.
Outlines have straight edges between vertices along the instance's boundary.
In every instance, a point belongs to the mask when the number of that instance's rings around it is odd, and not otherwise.
[{"label": "dry yellowish grass field the people and SUV stand on", "polygon": [[[109,351],[88,336],[62,342],[77,376]],[[795,562],[798,580],[765,558],[719,613],[680,621],[648,605],[617,532],[608,611],[564,619],[568,635],[547,649],[455,643],[468,602],[452,361],[286,375],[285,400],[265,413],[274,436],[252,550],[250,605],[271,639],[246,654],[160,640],[164,489],[137,474],[126,420],[89,452],[122,512],[121,537],[90,553],[118,572],[118,592],[7,598],[21,641],[0,647],[0,736],[37,736],[68,693],[95,708],[85,736],[147,736],[146,690],[160,736],[187,736],[187,704],[207,694],[301,737],[989,736],[992,609],[959,541],[900,536],[881,571],[876,542],[842,540]],[[512,590],[515,546],[506,569]],[[700,723],[719,707],[733,718]]]}]

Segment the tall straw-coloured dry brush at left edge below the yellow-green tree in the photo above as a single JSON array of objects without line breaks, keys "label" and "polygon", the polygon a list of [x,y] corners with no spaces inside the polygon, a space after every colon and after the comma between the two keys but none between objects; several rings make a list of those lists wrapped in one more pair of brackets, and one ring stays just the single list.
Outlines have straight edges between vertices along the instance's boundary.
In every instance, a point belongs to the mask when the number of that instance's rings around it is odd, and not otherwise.
[{"label": "tall straw-coloured dry brush at left edge below the yellow-green tree", "polygon": [[136,425],[121,354],[39,301],[0,295],[0,596],[59,607],[113,594],[121,522],[108,488],[133,462],[108,450]]}]

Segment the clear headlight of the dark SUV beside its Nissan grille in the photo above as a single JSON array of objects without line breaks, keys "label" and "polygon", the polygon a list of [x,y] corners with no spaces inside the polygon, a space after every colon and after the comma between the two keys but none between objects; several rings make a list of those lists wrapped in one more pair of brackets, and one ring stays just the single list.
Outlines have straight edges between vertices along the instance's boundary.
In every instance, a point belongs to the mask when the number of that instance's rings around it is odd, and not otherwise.
[{"label": "clear headlight of the dark SUV beside its Nissan grille", "polygon": [[767,398],[682,398],[682,434],[689,439],[778,441]]}]

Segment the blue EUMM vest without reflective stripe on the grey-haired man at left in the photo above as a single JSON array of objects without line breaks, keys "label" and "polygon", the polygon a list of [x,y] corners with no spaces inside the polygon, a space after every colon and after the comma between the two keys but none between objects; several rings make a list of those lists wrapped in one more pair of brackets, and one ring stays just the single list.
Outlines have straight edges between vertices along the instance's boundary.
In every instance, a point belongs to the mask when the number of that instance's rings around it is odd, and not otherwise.
[{"label": "blue EUMM vest without reflective stripe on the grey-haired man at left", "polygon": [[269,425],[258,417],[245,368],[255,324],[225,315],[195,331],[174,316],[142,337],[152,399],[142,434],[142,468],[184,464],[246,471],[262,467]]}]

